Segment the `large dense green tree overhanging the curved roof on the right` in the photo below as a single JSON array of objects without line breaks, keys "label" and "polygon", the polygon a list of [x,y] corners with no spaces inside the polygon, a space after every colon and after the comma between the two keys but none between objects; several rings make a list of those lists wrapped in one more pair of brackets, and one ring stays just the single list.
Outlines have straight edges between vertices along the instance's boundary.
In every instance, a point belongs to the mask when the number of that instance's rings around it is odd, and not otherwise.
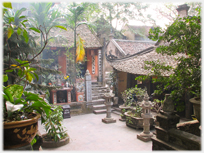
[{"label": "large dense green tree overhanging the curved roof on the right", "polygon": [[[152,79],[153,83],[160,83],[154,93],[162,94],[170,91],[171,97],[176,102],[177,111],[183,110],[184,95],[191,94],[200,99],[201,96],[201,19],[200,8],[196,9],[195,16],[178,18],[167,30],[159,27],[150,30],[152,40],[161,43],[156,52],[162,55],[175,56],[176,67],[168,63],[161,64],[158,61],[146,61],[145,67],[152,70],[148,76],[137,77],[137,79]],[[162,72],[171,71],[169,77],[164,77]],[[182,106],[182,107],[179,107]]]}]

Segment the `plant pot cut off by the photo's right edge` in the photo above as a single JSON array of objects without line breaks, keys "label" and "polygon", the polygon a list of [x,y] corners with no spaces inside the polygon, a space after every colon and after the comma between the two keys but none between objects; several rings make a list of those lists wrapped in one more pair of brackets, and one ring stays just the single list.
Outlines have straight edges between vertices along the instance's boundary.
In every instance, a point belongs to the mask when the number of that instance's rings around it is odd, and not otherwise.
[{"label": "plant pot cut off by the photo's right edge", "polygon": [[189,99],[189,101],[193,104],[193,111],[194,111],[194,115],[197,118],[197,120],[199,121],[199,123],[201,123],[201,114],[200,114],[200,99],[197,100],[196,98],[191,98]]}]

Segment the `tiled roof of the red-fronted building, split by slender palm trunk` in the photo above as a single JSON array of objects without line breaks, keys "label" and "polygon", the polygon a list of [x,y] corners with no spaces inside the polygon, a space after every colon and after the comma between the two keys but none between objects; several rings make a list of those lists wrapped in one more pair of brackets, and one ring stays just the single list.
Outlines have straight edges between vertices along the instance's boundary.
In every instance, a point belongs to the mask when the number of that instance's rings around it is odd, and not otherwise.
[{"label": "tiled roof of the red-fronted building, split by slender palm trunk", "polygon": [[[77,34],[81,36],[81,38],[85,41],[84,47],[85,48],[100,48],[102,45],[100,44],[96,33],[91,32],[91,30],[88,28],[87,25],[81,24],[77,27]],[[49,37],[55,37],[60,36],[56,38],[56,40],[51,40],[47,44],[47,46],[51,47],[72,47],[74,46],[74,31],[67,28],[67,31],[59,29],[59,28],[53,28],[51,29],[49,33]],[[64,37],[64,38],[63,38]]]}]

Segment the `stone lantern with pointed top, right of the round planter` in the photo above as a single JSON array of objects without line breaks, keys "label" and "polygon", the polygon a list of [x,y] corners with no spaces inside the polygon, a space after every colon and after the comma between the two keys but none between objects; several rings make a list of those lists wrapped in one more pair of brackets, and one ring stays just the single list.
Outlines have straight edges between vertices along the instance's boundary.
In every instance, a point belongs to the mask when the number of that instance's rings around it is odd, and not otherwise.
[{"label": "stone lantern with pointed top, right of the round planter", "polygon": [[142,141],[150,141],[153,133],[150,132],[150,118],[151,114],[151,101],[149,101],[149,96],[147,92],[145,93],[144,100],[141,102],[140,107],[142,107],[142,118],[143,118],[143,132],[137,135],[137,138]]}]

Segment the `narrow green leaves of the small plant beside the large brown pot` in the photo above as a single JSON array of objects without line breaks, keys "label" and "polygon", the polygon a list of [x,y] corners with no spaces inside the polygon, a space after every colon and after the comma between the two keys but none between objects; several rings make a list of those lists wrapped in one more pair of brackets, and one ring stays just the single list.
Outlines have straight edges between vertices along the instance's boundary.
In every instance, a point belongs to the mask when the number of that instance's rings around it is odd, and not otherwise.
[{"label": "narrow green leaves of the small plant beside the large brown pot", "polygon": [[67,136],[67,133],[62,126],[62,112],[62,106],[52,105],[52,111],[49,116],[46,116],[44,123],[47,136],[54,141],[59,141]]}]

